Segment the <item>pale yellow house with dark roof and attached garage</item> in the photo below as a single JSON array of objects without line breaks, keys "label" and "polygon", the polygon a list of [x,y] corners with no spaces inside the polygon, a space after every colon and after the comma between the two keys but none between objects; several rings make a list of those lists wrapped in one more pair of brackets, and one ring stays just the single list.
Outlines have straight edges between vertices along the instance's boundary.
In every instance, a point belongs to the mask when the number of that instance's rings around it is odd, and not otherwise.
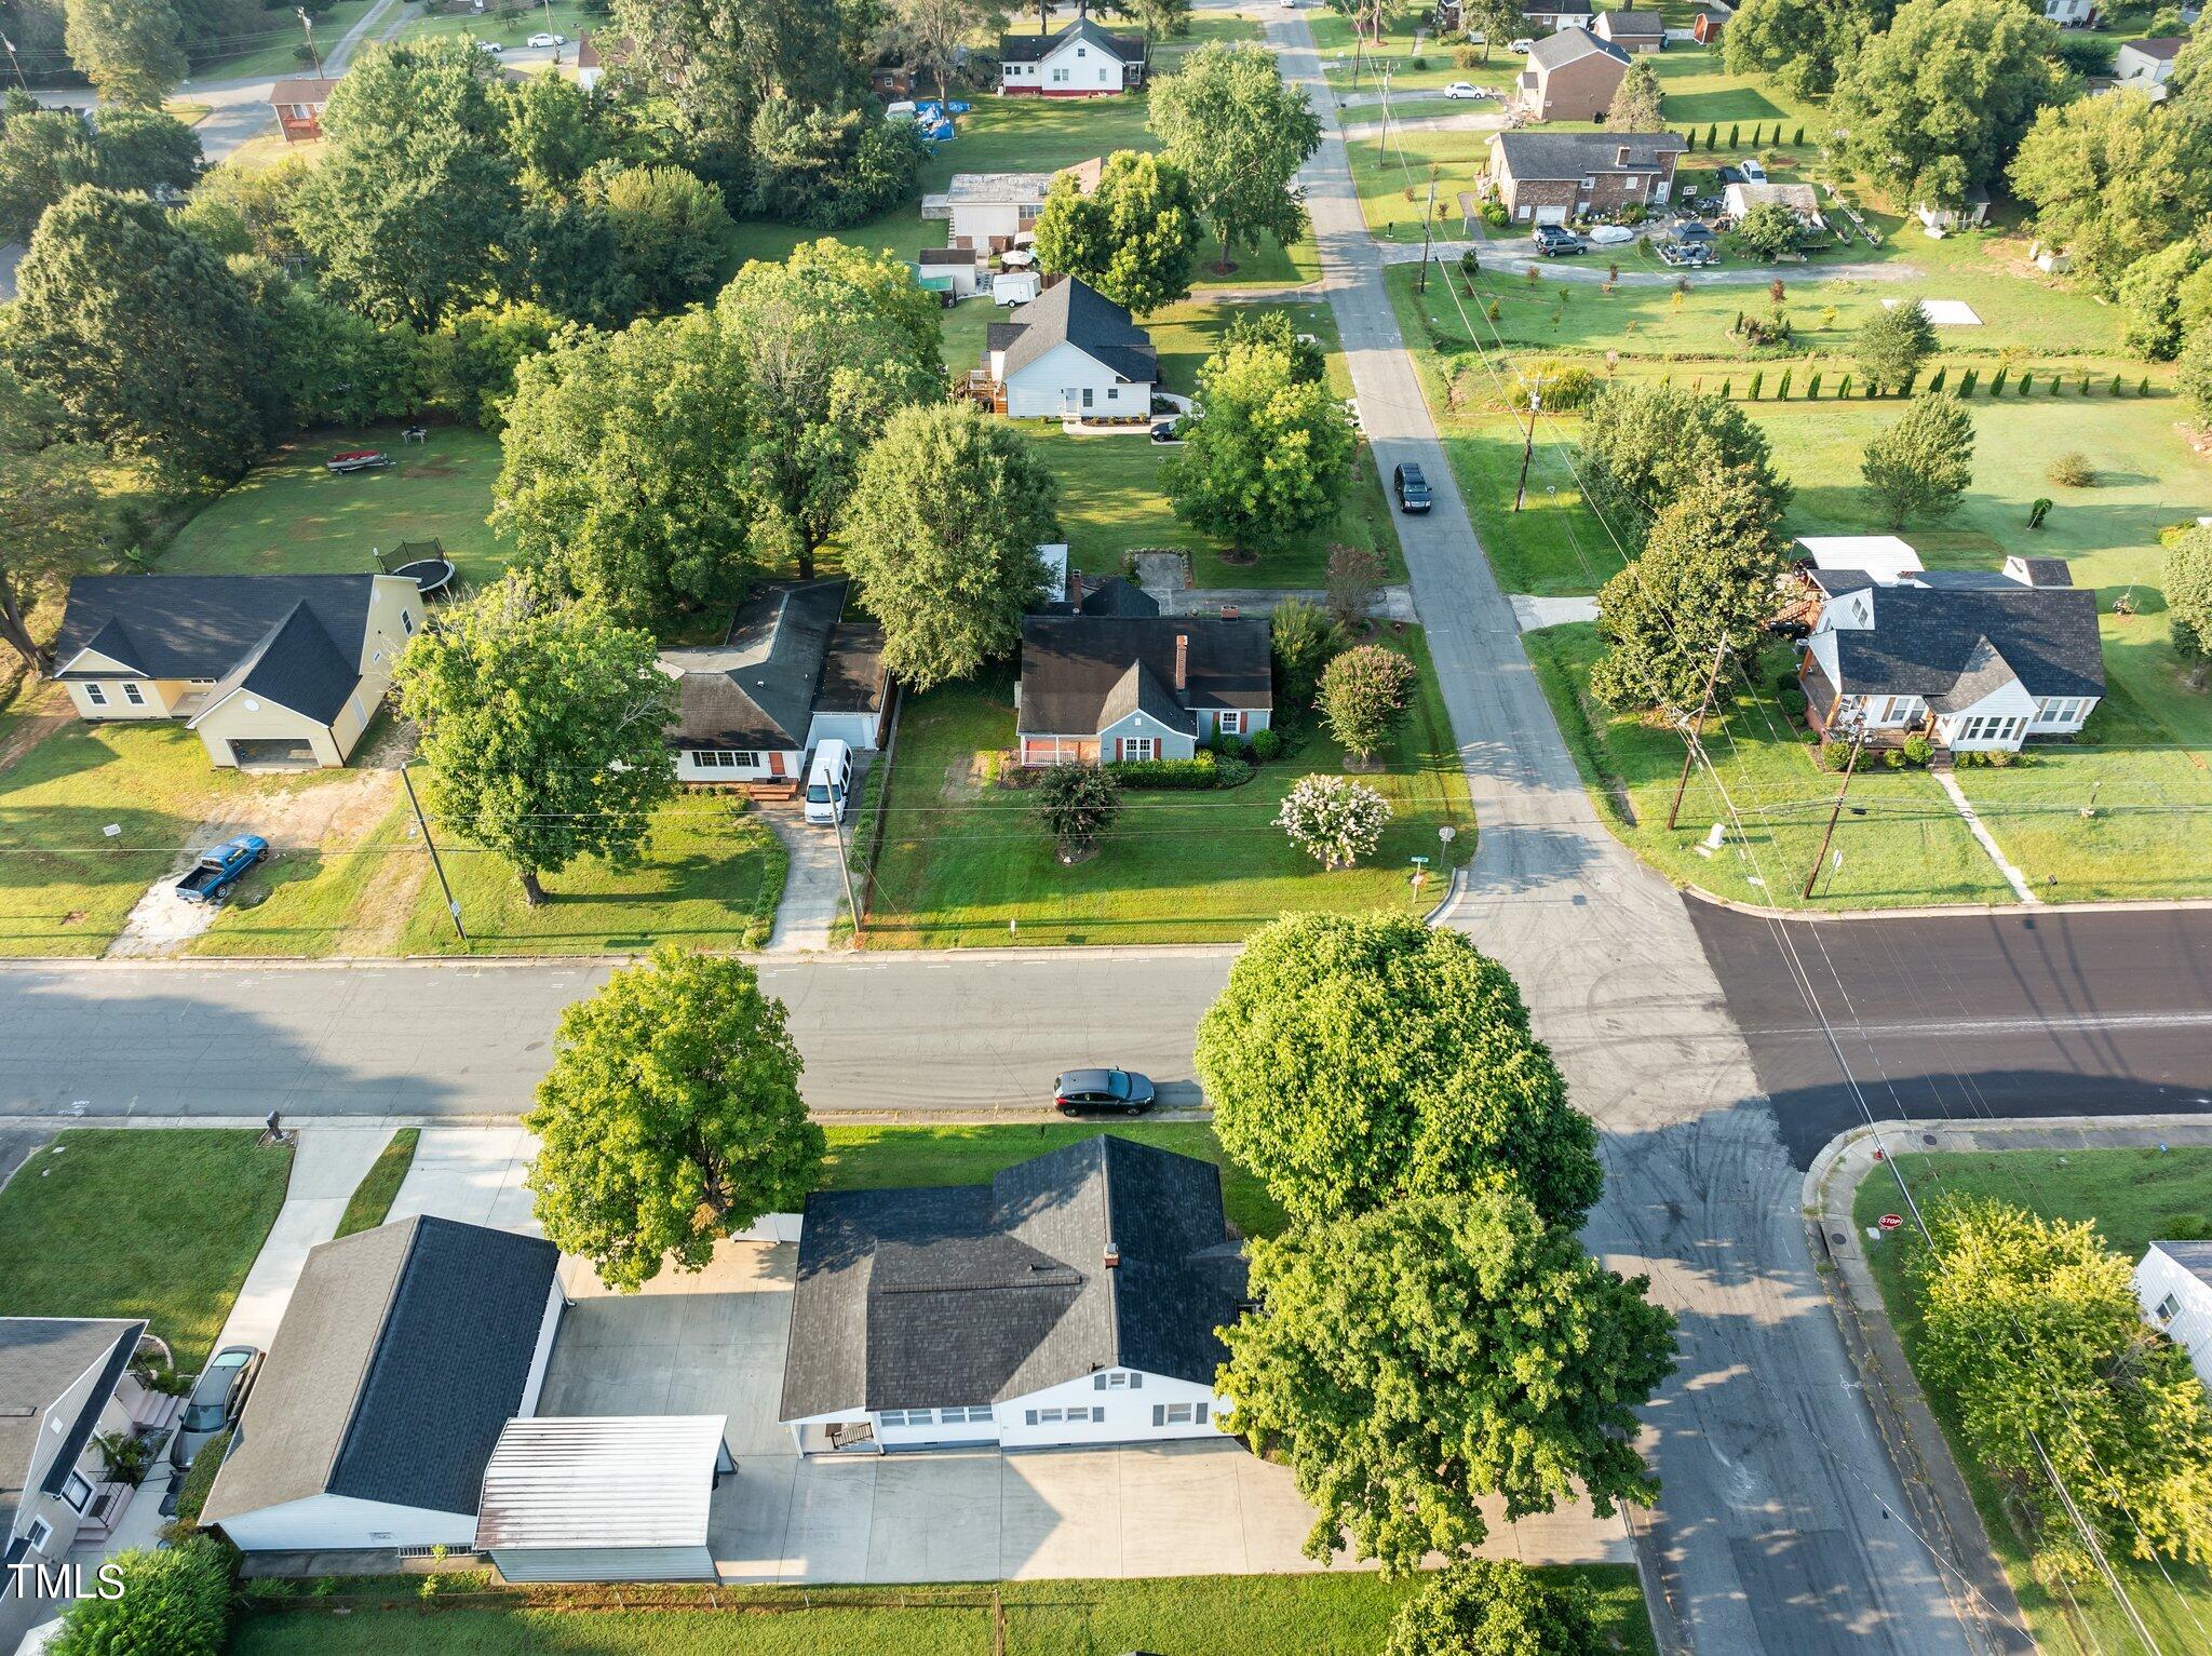
[{"label": "pale yellow house with dark roof and attached garage", "polygon": [[403,575],[80,575],[53,677],[88,721],[186,721],[217,765],[334,767],[420,628]]}]

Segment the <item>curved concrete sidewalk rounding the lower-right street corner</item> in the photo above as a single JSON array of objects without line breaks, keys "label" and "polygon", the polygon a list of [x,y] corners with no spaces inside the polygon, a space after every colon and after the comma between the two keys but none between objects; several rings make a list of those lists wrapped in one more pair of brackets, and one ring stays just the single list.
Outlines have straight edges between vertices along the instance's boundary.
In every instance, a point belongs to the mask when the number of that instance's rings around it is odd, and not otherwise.
[{"label": "curved concrete sidewalk rounding the lower-right street corner", "polygon": [[1851,1205],[1869,1176],[1891,1176],[1887,1156],[1962,1150],[2128,1150],[2146,1145],[2212,1145],[2203,1117],[2053,1117],[2044,1121],[1880,1121],[1829,1141],[1805,1174],[1807,1247],[1823,1271],[1845,1349],[1874,1408],[1876,1428],[1905,1479],[1911,1526],[1933,1554],[1962,1572],[1949,1576],[1960,1618],[1986,1652],[2013,1656],[2035,1649],[2013,1585],[1982,1528],[1982,1514],[1958,1475],[1949,1444],[1913,1380],[1905,1346],[1882,1309],[1867,1262],[1867,1236]]}]

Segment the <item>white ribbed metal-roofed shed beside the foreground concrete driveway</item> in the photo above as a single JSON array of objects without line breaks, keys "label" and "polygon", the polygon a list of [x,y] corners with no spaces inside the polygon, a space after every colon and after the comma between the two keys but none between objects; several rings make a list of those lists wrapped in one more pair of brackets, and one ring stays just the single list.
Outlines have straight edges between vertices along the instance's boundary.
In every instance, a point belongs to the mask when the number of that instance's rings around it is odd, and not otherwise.
[{"label": "white ribbed metal-roofed shed beside the foreground concrete driveway", "polygon": [[726,1415],[511,1419],[484,1468],[476,1550],[507,1581],[717,1581],[706,1526],[734,1472]]}]

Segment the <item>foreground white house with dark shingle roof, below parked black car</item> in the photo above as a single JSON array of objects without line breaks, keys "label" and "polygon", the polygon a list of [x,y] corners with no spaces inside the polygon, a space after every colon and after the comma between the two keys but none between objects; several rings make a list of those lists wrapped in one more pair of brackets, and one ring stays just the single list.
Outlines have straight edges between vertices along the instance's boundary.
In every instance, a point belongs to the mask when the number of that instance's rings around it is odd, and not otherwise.
[{"label": "foreground white house with dark shingle roof, below parked black car", "polygon": [[1243,1293],[1219,1170],[1130,1139],[814,1192],[781,1419],[805,1455],[1212,1437]]}]

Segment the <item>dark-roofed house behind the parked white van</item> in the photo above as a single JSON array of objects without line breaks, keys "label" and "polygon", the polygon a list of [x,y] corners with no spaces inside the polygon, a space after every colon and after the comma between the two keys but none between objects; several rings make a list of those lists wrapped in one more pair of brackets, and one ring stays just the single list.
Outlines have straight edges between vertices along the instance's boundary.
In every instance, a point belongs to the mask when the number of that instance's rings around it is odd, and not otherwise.
[{"label": "dark-roofed house behind the parked white van", "polygon": [[772,581],[701,650],[661,650],[677,681],[679,783],[787,783],[836,736],[874,752],[883,727],[883,628],[845,617],[845,579]]}]

